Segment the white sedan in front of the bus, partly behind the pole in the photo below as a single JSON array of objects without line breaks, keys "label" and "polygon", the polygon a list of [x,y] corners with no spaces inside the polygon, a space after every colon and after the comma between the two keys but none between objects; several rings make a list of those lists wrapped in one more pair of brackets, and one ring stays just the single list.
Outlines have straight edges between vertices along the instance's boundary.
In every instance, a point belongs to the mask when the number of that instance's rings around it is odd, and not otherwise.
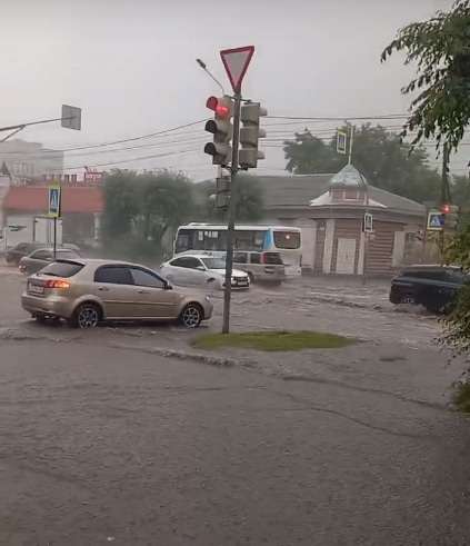
[{"label": "white sedan in front of the bus, partly behind the pole", "polygon": [[[207,254],[177,256],[162,264],[159,272],[178,285],[200,285],[214,289],[226,286],[226,260]],[[248,274],[239,269],[232,270],[231,281],[234,289],[250,287]]]}]

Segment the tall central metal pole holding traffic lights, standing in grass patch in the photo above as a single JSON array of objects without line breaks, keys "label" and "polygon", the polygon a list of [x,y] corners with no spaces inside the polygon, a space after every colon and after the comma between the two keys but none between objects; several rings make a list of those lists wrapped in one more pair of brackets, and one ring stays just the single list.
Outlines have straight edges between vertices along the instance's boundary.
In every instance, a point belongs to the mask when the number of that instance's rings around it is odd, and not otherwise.
[{"label": "tall central metal pole holding traffic lights, standing in grass patch", "polygon": [[232,140],[232,168],[230,180],[230,200],[227,219],[227,261],[226,261],[226,290],[223,292],[223,320],[222,334],[230,331],[230,299],[232,295],[232,266],[233,266],[233,245],[234,225],[237,217],[237,175],[238,175],[238,148],[240,145],[240,110],[241,92],[233,96],[233,140]]}]

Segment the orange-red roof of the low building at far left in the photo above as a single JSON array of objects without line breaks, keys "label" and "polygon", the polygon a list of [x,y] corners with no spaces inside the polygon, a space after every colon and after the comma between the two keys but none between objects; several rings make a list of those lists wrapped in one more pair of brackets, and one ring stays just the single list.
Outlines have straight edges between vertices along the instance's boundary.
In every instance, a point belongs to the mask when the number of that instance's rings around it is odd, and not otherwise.
[{"label": "orange-red roof of the low building at far left", "polygon": [[[48,212],[47,186],[12,186],[3,200],[3,208],[29,212]],[[62,212],[102,212],[101,188],[62,186]]]}]

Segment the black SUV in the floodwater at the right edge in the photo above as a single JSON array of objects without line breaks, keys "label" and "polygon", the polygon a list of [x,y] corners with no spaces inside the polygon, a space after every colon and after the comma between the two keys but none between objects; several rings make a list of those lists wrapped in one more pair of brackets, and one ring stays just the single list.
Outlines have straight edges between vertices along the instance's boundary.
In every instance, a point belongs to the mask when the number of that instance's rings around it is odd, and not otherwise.
[{"label": "black SUV in the floodwater at the right edge", "polygon": [[393,277],[390,287],[392,304],[422,305],[430,312],[452,308],[457,292],[470,277],[454,266],[411,266]]}]

